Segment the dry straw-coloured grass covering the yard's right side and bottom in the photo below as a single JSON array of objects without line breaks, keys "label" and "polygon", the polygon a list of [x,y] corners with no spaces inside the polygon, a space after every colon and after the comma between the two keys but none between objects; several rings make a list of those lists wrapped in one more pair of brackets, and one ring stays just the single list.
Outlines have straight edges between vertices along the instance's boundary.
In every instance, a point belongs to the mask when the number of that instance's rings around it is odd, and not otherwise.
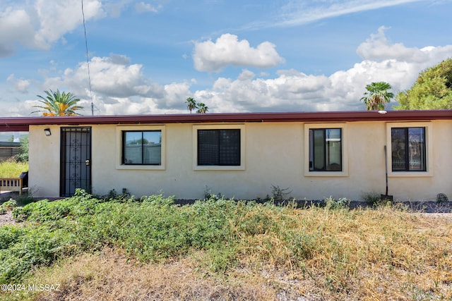
[{"label": "dry straw-coloured grass covering the yard's right side and bottom", "polygon": [[[246,226],[251,221],[256,227]],[[61,291],[16,299],[452,300],[451,218],[388,207],[256,206],[234,225],[241,243],[226,271],[212,269],[210,250],[143,264],[105,248],[37,270],[28,281],[60,283]]]}]

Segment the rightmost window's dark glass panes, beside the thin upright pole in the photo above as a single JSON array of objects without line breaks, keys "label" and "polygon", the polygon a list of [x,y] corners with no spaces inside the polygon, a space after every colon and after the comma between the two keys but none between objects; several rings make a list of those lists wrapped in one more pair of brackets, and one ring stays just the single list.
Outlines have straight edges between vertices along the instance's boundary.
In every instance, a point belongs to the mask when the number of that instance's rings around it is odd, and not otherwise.
[{"label": "rightmost window's dark glass panes, beside the thin upright pole", "polygon": [[391,128],[392,171],[427,171],[425,128]]}]

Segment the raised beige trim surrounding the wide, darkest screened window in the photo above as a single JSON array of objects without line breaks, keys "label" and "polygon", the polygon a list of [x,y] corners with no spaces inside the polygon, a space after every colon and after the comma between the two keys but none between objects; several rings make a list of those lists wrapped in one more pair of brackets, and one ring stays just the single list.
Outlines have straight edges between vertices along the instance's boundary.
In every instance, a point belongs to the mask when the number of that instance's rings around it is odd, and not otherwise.
[{"label": "raised beige trim surrounding the wide, darkest screened window", "polygon": [[[198,165],[198,130],[240,130],[240,165]],[[193,170],[194,171],[244,171],[245,169],[245,126],[244,125],[194,125]]]}]

